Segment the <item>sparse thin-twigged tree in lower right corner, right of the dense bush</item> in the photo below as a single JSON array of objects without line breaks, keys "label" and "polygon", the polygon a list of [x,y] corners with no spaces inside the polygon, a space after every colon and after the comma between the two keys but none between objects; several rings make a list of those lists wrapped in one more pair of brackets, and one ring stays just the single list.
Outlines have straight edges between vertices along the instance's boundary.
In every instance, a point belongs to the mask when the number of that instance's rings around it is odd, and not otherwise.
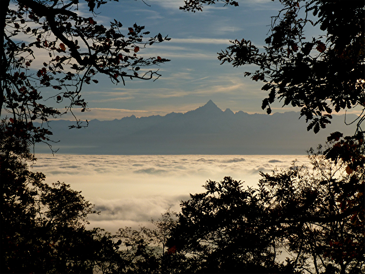
[{"label": "sparse thin-twigged tree in lower right corner, right of the dense bush", "polygon": [[312,169],[261,173],[273,222],[280,222],[278,242],[295,254],[299,269],[363,273],[364,168],[349,175],[346,164],[326,160],[320,150],[310,160]]}]

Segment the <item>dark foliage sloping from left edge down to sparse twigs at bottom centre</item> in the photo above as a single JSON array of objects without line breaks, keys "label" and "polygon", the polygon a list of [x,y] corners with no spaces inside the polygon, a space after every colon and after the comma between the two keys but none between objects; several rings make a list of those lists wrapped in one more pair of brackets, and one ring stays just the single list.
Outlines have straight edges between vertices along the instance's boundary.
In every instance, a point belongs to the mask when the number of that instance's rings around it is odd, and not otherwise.
[{"label": "dark foliage sloping from left edge down to sparse twigs at bottom centre", "polygon": [[30,140],[9,134],[6,126],[3,120],[1,273],[175,273],[184,268],[185,257],[166,244],[176,224],[173,212],[151,220],[155,229],[125,228],[116,235],[86,229],[89,214],[99,214],[94,205],[69,184],[49,185],[44,174],[31,172],[24,163],[36,160]]}]

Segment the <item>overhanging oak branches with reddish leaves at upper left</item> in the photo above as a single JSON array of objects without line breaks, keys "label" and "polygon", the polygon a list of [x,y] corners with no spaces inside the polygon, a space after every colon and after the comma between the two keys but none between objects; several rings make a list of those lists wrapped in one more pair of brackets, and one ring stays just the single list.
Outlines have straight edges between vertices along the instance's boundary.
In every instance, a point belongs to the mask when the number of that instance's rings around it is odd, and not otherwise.
[{"label": "overhanging oak branches with reddish leaves at upper left", "polygon": [[[97,84],[100,74],[123,84],[126,79],[149,80],[156,76],[156,80],[160,77],[158,70],[141,73],[140,69],[170,61],[140,55],[146,46],[170,38],[160,33],[147,38],[150,32],[137,24],[123,33],[122,23],[117,20],[109,27],[98,24],[96,10],[107,1],[86,3],[90,17],[79,15],[78,0],[1,1],[1,110],[9,113],[16,130],[30,134],[33,144],[49,143],[51,132],[36,128],[32,122],[47,122],[49,117],[67,112],[74,114],[73,107],[86,111],[82,86]],[[50,90],[54,93],[43,98],[45,89],[48,94]],[[62,107],[47,106],[47,100],[50,105]],[[85,126],[81,123],[77,120],[70,128]]]}]

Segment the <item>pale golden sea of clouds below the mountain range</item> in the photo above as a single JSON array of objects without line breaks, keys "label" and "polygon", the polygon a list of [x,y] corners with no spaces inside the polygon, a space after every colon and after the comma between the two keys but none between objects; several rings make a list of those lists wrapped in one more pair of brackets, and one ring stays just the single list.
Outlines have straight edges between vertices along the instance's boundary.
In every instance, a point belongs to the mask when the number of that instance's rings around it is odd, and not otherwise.
[{"label": "pale golden sea of clouds below the mountain range", "polygon": [[179,211],[189,193],[202,193],[207,180],[224,176],[255,186],[259,172],[275,167],[309,164],[295,155],[58,155],[38,154],[32,171],[41,171],[46,182],[57,180],[82,191],[100,215],[89,217],[90,228],[116,232],[120,227],[150,226],[168,208]]}]

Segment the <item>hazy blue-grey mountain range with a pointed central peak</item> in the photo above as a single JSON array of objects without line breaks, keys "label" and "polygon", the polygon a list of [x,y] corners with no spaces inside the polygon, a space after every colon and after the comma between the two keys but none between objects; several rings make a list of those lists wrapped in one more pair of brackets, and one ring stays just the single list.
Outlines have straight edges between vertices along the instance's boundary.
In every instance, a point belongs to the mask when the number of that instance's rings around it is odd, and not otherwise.
[{"label": "hazy blue-grey mountain range with a pointed central peak", "polygon": [[[292,154],[302,155],[324,143],[334,131],[351,134],[344,115],[333,115],[332,124],[318,134],[307,132],[300,113],[248,114],[222,111],[209,100],[186,113],[169,113],[120,120],[89,121],[85,129],[68,129],[71,121],[51,121],[53,140],[65,154],[171,155],[171,154]],[[347,115],[346,119],[356,116]],[[37,152],[49,152],[37,146]]]}]

